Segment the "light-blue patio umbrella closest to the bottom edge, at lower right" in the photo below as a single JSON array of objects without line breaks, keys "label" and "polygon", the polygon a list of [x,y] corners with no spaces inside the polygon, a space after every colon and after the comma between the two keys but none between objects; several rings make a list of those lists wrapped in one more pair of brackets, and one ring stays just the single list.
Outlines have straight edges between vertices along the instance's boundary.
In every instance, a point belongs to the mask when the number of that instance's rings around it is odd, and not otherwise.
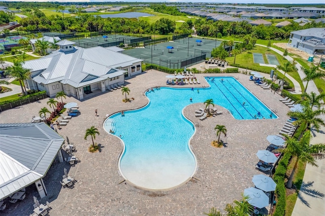
[{"label": "light-blue patio umbrella closest to the bottom edge, at lower right", "polygon": [[264,208],[269,205],[269,197],[257,188],[246,188],[244,196],[248,196],[248,203],[257,208]]}]

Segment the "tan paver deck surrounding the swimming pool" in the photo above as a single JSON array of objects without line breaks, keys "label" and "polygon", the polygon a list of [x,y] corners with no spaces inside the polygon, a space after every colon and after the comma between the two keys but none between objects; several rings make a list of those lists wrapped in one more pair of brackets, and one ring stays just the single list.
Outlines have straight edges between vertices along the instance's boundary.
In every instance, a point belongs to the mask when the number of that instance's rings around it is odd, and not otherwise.
[{"label": "tan paver deck surrounding the swimming pool", "polygon": [[[186,184],[169,191],[152,192],[121,183],[124,179],[118,172],[117,161],[122,152],[122,143],[116,136],[106,133],[103,122],[106,115],[122,110],[136,109],[145,105],[148,100],[144,91],[155,86],[167,86],[166,74],[150,70],[126,80],[126,87],[131,92],[129,98],[135,100],[124,103],[121,90],[106,92],[99,96],[78,101],[67,97],[66,102],[77,102],[81,115],[72,118],[67,126],[58,130],[64,138],[76,146],[75,156],[81,162],[75,167],[67,163],[53,164],[44,178],[48,196],[39,199],[40,203],[50,202],[53,215],[201,215],[210,207],[223,209],[226,203],[240,199],[245,188],[253,187],[251,179],[254,174],[261,174],[255,169],[258,150],[264,150],[269,145],[267,135],[278,134],[286,121],[289,108],[279,101],[280,96],[271,90],[264,90],[249,81],[249,76],[242,74],[196,74],[201,85],[186,85],[185,87],[202,87],[204,76],[234,76],[255,96],[262,100],[272,110],[277,110],[277,119],[235,120],[223,107],[222,115],[200,121],[194,117],[194,110],[203,107],[203,103],[192,104],[184,109],[184,114],[197,125],[197,132],[190,140],[190,145],[198,160],[198,168]],[[184,86],[173,86],[182,88]],[[1,123],[30,122],[31,117],[48,105],[48,99],[26,104],[16,109],[0,114]],[[48,107],[49,108],[49,107]],[[98,109],[98,117],[94,110]],[[214,127],[223,124],[228,129],[224,140],[224,148],[216,149],[211,142],[216,140]],[[87,151],[91,143],[90,137],[84,140],[85,130],[95,126],[100,135],[95,142],[100,143],[100,153],[90,154]],[[135,137],[136,138],[136,137]],[[67,157],[67,156],[66,156]],[[61,189],[63,168],[69,175],[77,179],[72,190]],[[197,180],[198,179],[198,180]],[[29,215],[32,213],[33,199],[39,198],[35,185],[26,189],[26,198],[15,204],[7,202],[7,209],[2,215]]]}]

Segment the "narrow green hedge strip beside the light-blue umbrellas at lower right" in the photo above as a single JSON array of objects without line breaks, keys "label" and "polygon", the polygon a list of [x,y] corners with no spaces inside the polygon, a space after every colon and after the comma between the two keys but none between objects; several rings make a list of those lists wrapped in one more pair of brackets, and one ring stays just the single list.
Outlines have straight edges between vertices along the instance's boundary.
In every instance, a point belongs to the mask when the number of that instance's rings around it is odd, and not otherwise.
[{"label": "narrow green hedge strip beside the light-blue umbrellas at lower right", "polygon": [[284,178],[285,178],[285,173],[289,164],[290,157],[291,157],[290,154],[283,155],[278,166],[275,169],[275,173],[273,176],[274,182],[276,183],[275,195],[278,198],[276,209],[273,214],[274,216],[283,216],[285,214],[286,190],[285,190]]}]

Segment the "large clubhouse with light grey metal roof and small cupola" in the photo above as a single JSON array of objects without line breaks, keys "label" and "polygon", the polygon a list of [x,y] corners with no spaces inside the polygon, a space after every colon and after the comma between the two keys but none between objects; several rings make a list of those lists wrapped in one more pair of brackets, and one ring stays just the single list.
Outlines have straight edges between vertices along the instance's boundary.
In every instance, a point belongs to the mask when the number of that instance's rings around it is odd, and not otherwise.
[{"label": "large clubhouse with light grey metal roof and small cupola", "polygon": [[50,97],[64,91],[79,100],[124,84],[124,78],[142,72],[142,59],[120,53],[119,49],[81,48],[62,40],[59,50],[40,59],[25,61],[31,78],[25,85],[31,90],[46,91]]}]

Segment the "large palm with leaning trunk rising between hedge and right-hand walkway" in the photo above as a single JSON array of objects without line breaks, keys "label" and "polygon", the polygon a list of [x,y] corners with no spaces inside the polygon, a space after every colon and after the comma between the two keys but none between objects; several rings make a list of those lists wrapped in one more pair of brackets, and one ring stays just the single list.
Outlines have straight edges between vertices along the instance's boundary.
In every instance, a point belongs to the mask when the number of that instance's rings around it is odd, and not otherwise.
[{"label": "large palm with leaning trunk rising between hedge and right-hand walkway", "polygon": [[285,149],[276,149],[274,152],[279,153],[288,153],[291,156],[296,156],[296,162],[293,171],[290,174],[288,182],[286,183],[287,188],[292,188],[294,174],[298,165],[298,161],[301,160],[312,166],[316,166],[315,157],[324,156],[325,154],[325,144],[317,143],[314,145],[310,144],[310,131],[306,131],[302,138],[298,141],[296,138],[286,136],[286,148]]}]

